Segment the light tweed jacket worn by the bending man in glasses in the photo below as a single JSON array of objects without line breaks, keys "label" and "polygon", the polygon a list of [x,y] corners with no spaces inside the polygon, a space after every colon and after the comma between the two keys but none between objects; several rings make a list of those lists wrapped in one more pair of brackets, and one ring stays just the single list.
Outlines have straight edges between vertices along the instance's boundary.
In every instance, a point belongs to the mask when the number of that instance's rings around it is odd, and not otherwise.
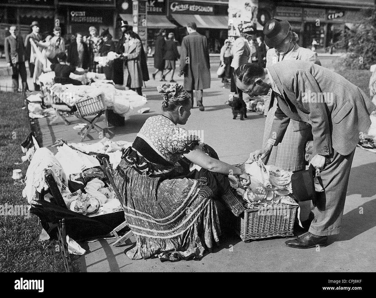
[{"label": "light tweed jacket worn by the bending man in glasses", "polygon": [[282,141],[291,118],[312,126],[317,154],[328,156],[333,148],[348,155],[355,149],[359,135],[371,125],[370,113],[376,109],[359,87],[306,61],[282,61],[271,65],[268,73],[283,95],[277,97],[270,132],[270,138],[276,139],[274,145]]}]

